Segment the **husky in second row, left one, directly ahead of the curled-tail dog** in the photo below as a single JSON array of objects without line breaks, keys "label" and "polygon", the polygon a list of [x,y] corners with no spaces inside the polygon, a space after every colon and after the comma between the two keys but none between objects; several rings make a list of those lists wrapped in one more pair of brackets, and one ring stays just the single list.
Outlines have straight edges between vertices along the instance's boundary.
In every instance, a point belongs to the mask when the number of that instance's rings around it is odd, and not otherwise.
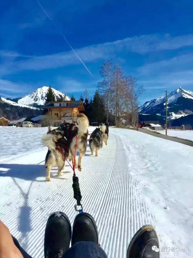
[{"label": "husky in second row, left one, directly ahead of the curled-tail dog", "polygon": [[102,147],[102,130],[101,128],[96,128],[90,135],[89,146],[91,154],[95,150],[95,156],[98,156],[98,150]]}]

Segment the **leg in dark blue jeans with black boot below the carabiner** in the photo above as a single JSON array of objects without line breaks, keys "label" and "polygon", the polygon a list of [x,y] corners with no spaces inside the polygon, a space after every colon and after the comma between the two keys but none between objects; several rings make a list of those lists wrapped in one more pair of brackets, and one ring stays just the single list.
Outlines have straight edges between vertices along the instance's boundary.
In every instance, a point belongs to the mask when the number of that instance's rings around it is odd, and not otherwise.
[{"label": "leg in dark blue jeans with black boot below the carabiner", "polygon": [[88,213],[80,213],[73,224],[71,248],[63,258],[107,258],[99,246],[96,223]]}]

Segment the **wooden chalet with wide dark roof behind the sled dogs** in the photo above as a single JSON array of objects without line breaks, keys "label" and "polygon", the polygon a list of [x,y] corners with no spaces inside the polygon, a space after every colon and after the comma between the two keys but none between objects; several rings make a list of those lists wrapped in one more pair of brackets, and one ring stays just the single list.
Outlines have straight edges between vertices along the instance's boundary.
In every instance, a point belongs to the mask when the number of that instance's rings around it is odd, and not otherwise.
[{"label": "wooden chalet with wide dark roof behind the sled dogs", "polygon": [[69,123],[77,122],[77,114],[85,111],[81,100],[75,101],[54,101],[43,106],[46,115],[49,115],[55,125],[66,121]]}]

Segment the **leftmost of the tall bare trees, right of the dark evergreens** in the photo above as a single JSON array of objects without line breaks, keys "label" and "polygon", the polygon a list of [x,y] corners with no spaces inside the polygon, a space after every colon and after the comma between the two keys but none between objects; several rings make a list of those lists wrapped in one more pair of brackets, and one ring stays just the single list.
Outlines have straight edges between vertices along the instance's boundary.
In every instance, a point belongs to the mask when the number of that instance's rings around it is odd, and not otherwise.
[{"label": "leftmost of the tall bare trees, right of the dark evergreens", "polygon": [[103,81],[98,83],[98,89],[103,95],[106,103],[106,122],[108,123],[109,99],[110,94],[112,93],[113,83],[113,65],[111,61],[106,61],[102,64],[100,68],[100,76],[103,78]]}]

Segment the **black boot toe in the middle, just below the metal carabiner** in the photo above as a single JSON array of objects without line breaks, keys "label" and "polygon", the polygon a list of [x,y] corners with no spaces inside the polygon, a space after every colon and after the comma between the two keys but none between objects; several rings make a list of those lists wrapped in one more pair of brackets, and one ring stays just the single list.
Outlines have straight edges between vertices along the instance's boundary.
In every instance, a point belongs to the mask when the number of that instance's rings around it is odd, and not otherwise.
[{"label": "black boot toe in the middle, just below the metal carabiner", "polygon": [[75,217],[71,245],[80,241],[99,242],[98,230],[93,217],[88,213],[80,213]]}]

